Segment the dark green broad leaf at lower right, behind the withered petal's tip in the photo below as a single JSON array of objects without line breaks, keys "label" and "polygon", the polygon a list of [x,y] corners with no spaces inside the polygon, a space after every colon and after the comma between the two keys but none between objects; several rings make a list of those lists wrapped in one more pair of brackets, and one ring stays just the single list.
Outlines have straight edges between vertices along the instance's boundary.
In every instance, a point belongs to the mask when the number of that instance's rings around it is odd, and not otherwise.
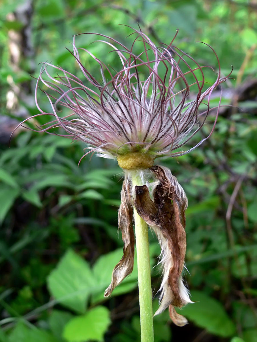
[{"label": "dark green broad leaf at lower right, behind the withered petal's tip", "polygon": [[222,304],[201,291],[192,291],[192,301],[178,312],[192,320],[197,326],[222,337],[235,332],[235,325],[225,312]]}]

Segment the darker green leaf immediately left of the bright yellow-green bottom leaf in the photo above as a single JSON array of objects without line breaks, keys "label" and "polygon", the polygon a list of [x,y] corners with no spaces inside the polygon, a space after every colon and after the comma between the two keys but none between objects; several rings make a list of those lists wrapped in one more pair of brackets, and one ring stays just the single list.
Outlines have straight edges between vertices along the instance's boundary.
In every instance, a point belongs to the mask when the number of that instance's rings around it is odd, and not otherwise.
[{"label": "darker green leaf immediately left of the bright yellow-green bottom leaf", "polygon": [[52,333],[55,337],[62,340],[62,333],[64,326],[73,318],[74,316],[65,311],[53,310],[49,317],[49,325]]}]

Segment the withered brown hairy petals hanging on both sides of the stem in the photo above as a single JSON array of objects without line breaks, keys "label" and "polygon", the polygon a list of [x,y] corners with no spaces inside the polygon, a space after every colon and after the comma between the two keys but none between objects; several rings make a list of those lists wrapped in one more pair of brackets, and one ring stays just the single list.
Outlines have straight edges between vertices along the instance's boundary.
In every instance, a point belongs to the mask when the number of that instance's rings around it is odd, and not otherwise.
[{"label": "withered brown hairy petals hanging on both sides of the stem", "polygon": [[[163,279],[161,284],[160,307],[155,315],[169,306],[170,317],[178,326],[184,326],[187,320],[178,314],[174,306],[182,307],[190,303],[188,291],[183,284],[182,271],[186,252],[185,209],[187,198],[170,170],[160,166],[150,168],[157,181],[152,198],[147,185],[132,189],[129,179],[125,179],[122,188],[122,204],[119,211],[119,224],[124,240],[124,255],[115,266],[111,285],[105,295],[110,295],[115,286],[133,270],[134,236],[131,217],[132,203],[141,218],[147,222],[157,235],[161,245]],[[130,201],[130,202],[129,202]],[[122,218],[122,215],[125,217]],[[132,241],[129,248],[128,243]],[[133,249],[133,250],[132,250]]]}]

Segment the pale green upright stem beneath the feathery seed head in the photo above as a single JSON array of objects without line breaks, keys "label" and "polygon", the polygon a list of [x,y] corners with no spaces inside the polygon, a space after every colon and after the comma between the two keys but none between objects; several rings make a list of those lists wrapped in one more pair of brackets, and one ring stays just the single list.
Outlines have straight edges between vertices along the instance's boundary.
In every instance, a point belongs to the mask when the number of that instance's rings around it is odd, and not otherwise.
[{"label": "pale green upright stem beneath the feathery seed head", "polygon": [[[132,177],[132,186],[143,185],[140,177]],[[134,207],[136,252],[138,269],[138,291],[140,307],[141,342],[154,342],[152,316],[151,266],[149,256],[148,225],[140,218]]]}]

